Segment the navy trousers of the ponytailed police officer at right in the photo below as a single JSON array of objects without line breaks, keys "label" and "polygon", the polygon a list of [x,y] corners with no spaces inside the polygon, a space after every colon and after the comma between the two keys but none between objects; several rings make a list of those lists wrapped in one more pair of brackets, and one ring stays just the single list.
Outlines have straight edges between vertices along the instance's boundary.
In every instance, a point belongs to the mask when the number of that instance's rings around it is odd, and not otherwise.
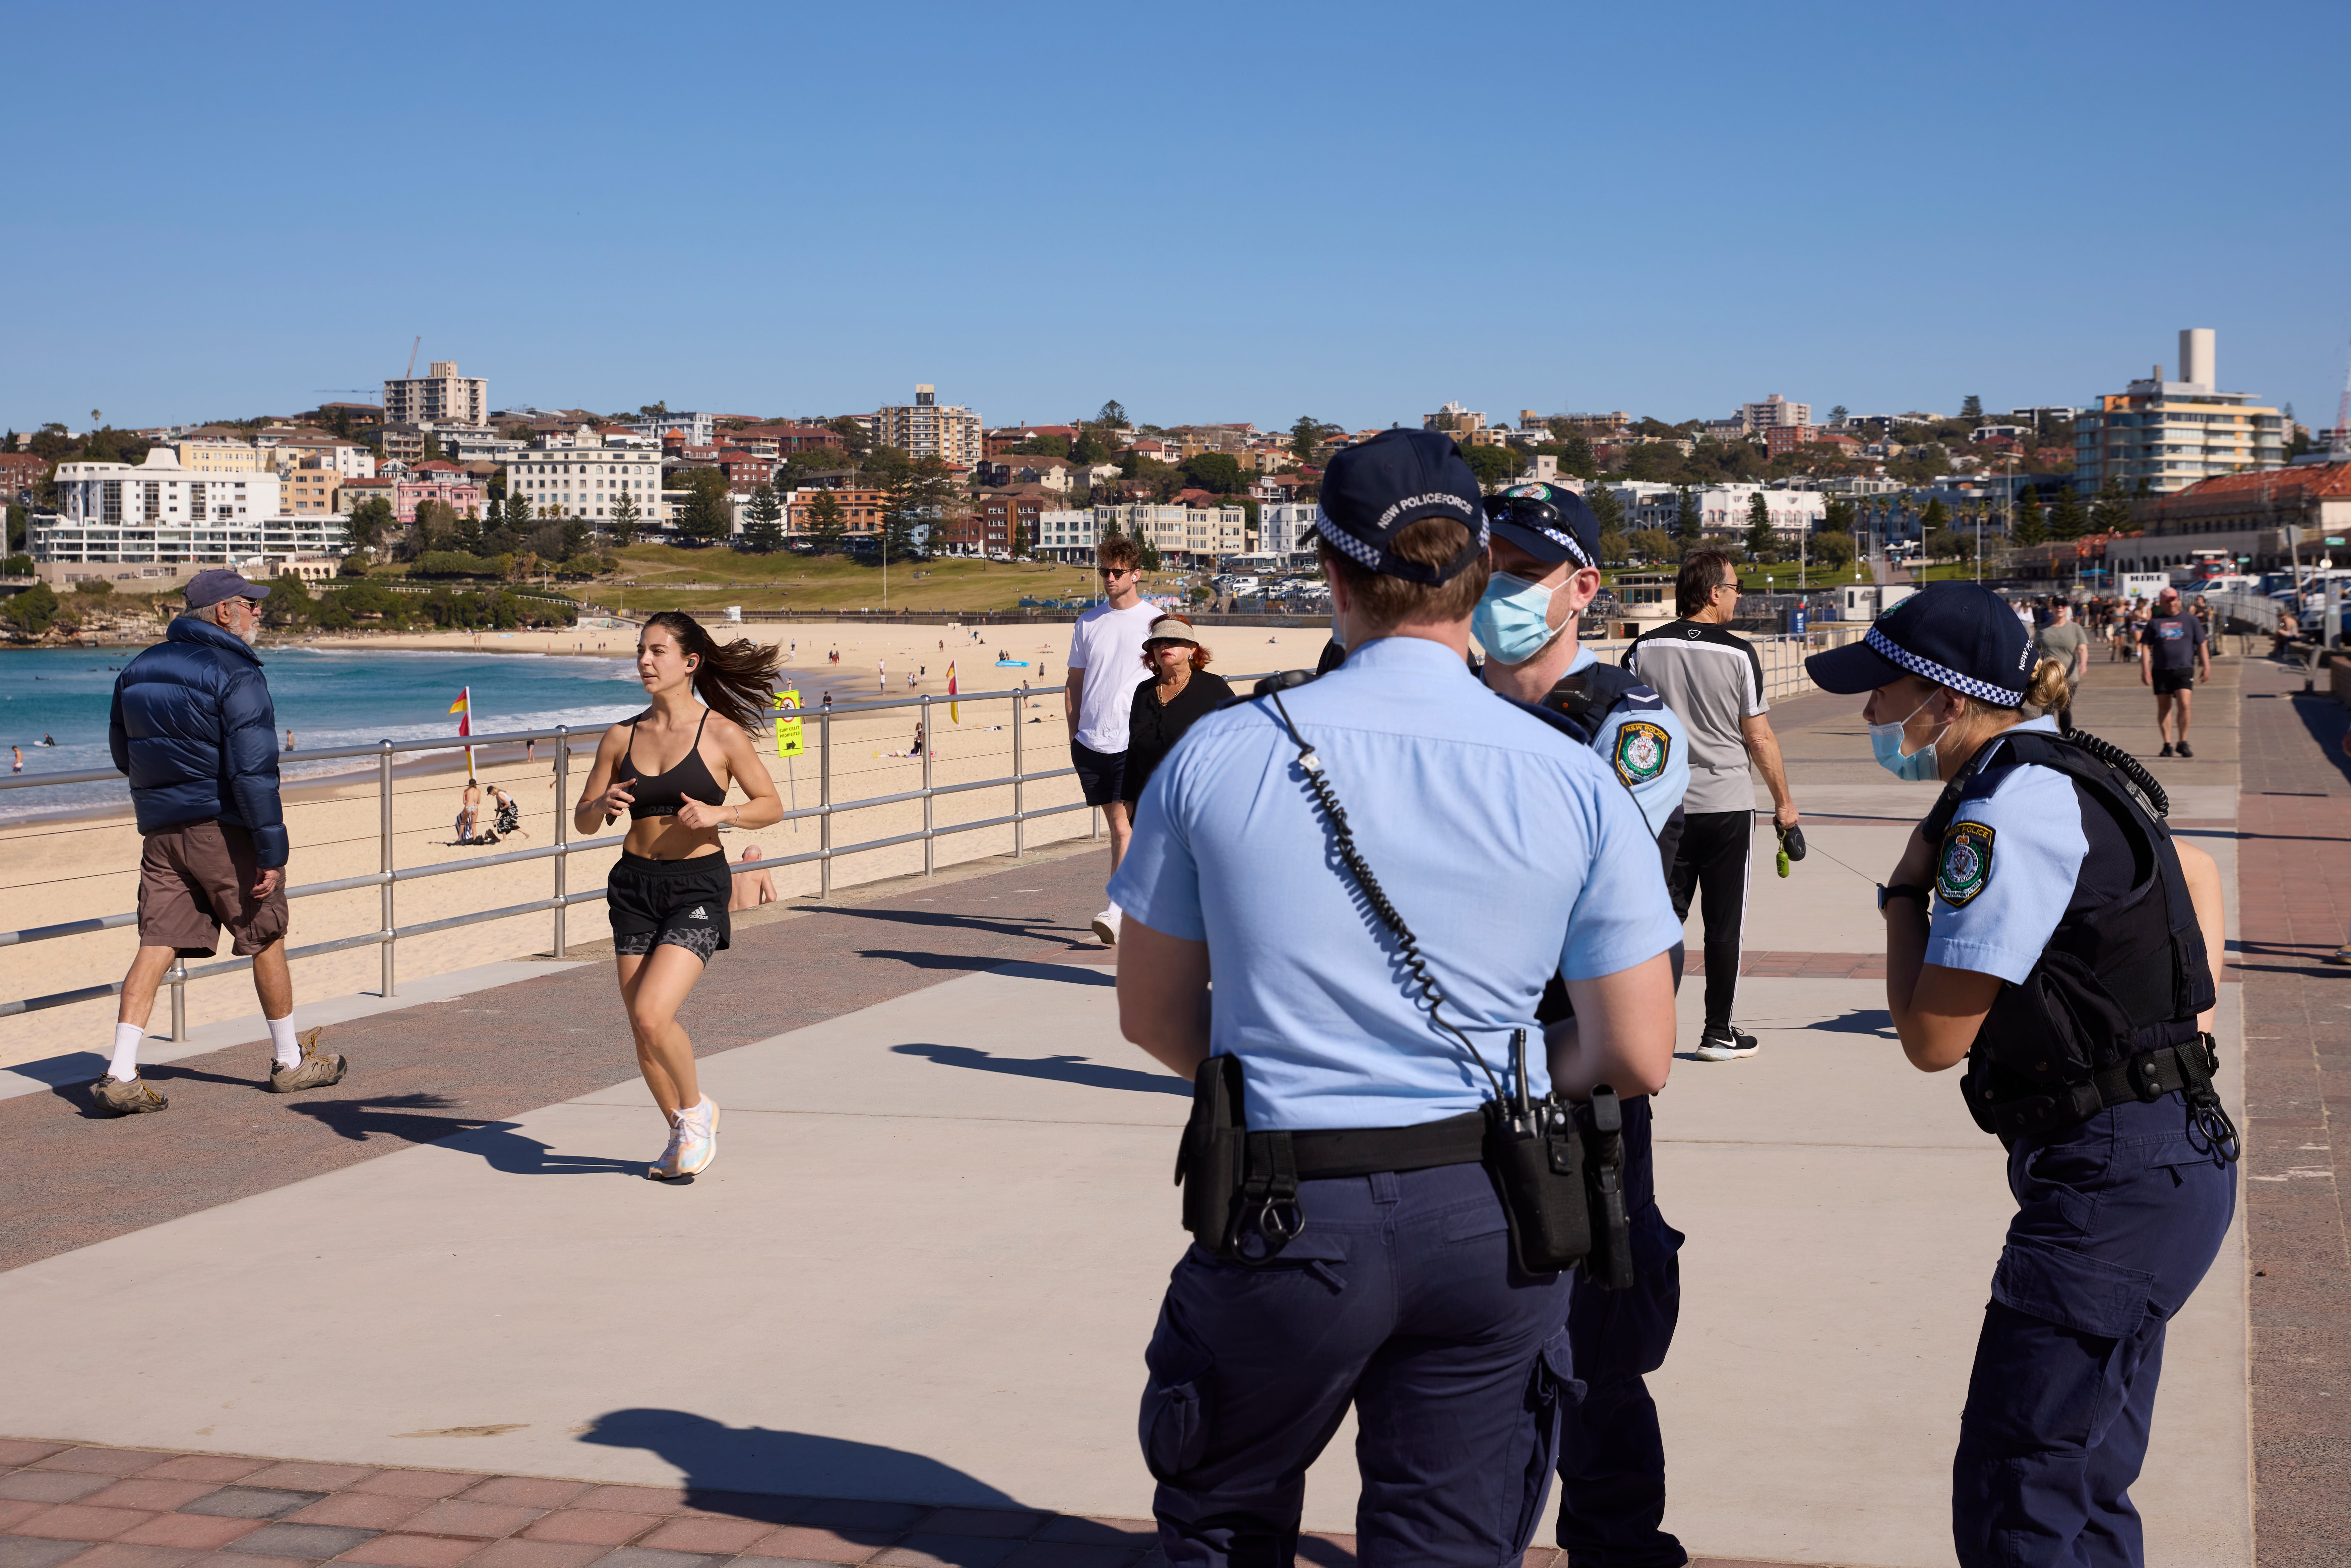
[{"label": "navy trousers of the ponytailed police officer at right", "polygon": [[2170,1093],[2008,1152],[2017,1218],[1951,1462],[1963,1568],[2144,1561],[2128,1488],[2146,1458],[2163,1331],[2236,1211],[2236,1166],[2186,1117]]}]

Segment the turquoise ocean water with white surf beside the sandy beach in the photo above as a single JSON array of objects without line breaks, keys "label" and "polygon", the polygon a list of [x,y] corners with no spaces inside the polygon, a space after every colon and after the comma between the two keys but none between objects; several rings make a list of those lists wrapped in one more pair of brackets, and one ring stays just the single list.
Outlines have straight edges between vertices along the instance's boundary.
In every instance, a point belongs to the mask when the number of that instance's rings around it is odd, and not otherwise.
[{"label": "turquoise ocean water with white surf beside the sandy beach", "polygon": [[[115,675],[132,656],[134,649],[0,651],[0,755],[7,745],[24,748],[24,773],[14,778],[113,766],[106,722]],[[454,748],[458,717],[449,712],[449,703],[465,686],[473,686],[477,736],[555,724],[611,724],[644,708],[644,689],[628,658],[270,646],[261,651],[261,670],[277,705],[280,748],[284,731],[294,731],[294,755],[277,759],[280,776],[289,783],[374,766],[367,757],[303,762],[301,752],[308,748],[435,736],[449,736]],[[788,679],[811,701],[832,684],[813,670],[790,665]],[[56,745],[40,745],[45,736]],[[400,759],[411,762],[421,755],[426,752],[402,752]],[[0,820],[127,799],[122,783],[0,790]]]}]

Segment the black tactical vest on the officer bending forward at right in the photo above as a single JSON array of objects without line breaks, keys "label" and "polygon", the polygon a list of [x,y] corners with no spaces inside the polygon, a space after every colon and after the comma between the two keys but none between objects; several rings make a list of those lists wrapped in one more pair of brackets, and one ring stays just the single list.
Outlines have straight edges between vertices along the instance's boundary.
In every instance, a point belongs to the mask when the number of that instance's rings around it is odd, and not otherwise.
[{"label": "black tactical vest on the officer bending forward at right", "polygon": [[2142,792],[2067,736],[2008,731],[1987,750],[1996,757],[1968,769],[1928,813],[1930,842],[1949,827],[1968,778],[2036,764],[2071,778],[2078,797],[2116,820],[2130,842],[2132,877],[2121,898],[2067,914],[2031,973],[2001,987],[1968,1048],[1970,1110],[1975,1098],[2076,1088],[2135,1056],[2186,1044],[2215,997],[2179,856]]}]

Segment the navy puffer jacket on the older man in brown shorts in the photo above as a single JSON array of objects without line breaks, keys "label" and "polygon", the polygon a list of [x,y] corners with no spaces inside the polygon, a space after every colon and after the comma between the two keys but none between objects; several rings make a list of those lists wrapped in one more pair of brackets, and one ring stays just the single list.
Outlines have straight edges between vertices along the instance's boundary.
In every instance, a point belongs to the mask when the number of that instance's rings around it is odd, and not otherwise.
[{"label": "navy puffer jacket on the older man in brown shorts", "polygon": [[277,708],[242,639],[195,616],[174,621],[115,677],[108,738],[132,776],[139,832],[219,818],[254,835],[261,870],[287,863]]}]

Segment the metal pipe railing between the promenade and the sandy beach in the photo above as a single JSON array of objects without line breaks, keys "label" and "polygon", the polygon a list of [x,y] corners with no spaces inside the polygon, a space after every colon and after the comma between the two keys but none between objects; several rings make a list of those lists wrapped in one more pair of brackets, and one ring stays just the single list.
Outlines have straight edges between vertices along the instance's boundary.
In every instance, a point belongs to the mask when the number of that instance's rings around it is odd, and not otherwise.
[{"label": "metal pipe railing between the promenade and the sandy beach", "polygon": [[[1244,679],[1248,679],[1248,677],[1244,677]],[[938,858],[936,858],[938,839],[945,839],[945,837],[952,837],[952,835],[959,835],[959,832],[980,832],[985,827],[1011,827],[1011,832],[1013,832],[1013,856],[1027,853],[1027,823],[1034,823],[1034,820],[1046,818],[1046,816],[1063,816],[1063,813],[1070,813],[1070,811],[1089,811],[1089,806],[1084,802],[1063,804],[1063,806],[1034,806],[1034,809],[1027,806],[1027,785],[1044,783],[1044,780],[1051,780],[1051,778],[1072,778],[1077,773],[1077,769],[1072,769],[1072,766],[1039,769],[1039,771],[1030,771],[1027,769],[1027,757],[1025,757],[1025,750],[1027,750],[1025,748],[1025,729],[1027,726],[1023,722],[1025,712],[1023,712],[1020,705],[1023,705],[1023,701],[1032,701],[1032,698],[1037,698],[1041,693],[1056,693],[1056,691],[1060,691],[1060,689],[1058,686],[1041,686],[1041,689],[957,693],[952,698],[955,703],[999,703],[999,701],[1009,701],[1013,705],[1013,724],[1009,726],[1011,733],[1013,733],[1013,771],[1006,773],[1006,776],[1002,776],[1002,778],[978,778],[978,780],[971,780],[971,783],[950,783],[950,785],[940,785],[931,776],[931,764],[933,764],[933,755],[936,755],[936,748],[931,745],[931,738],[936,733],[933,726],[931,726],[931,712],[933,712],[933,708],[947,703],[950,698],[936,698],[936,696],[924,693],[924,696],[910,696],[910,698],[877,698],[877,701],[870,701],[870,703],[830,703],[830,705],[820,705],[820,708],[802,708],[799,712],[792,712],[792,715],[778,715],[778,717],[799,719],[804,726],[813,726],[816,729],[816,780],[818,780],[816,783],[816,804],[813,806],[802,806],[802,809],[795,809],[795,811],[785,811],[783,816],[776,818],[776,825],[797,823],[797,820],[816,820],[816,835],[818,835],[816,837],[816,849],[797,853],[797,856],[773,856],[773,858],[762,858],[762,860],[729,860],[731,875],[741,877],[745,872],[766,872],[766,870],[781,870],[781,867],[788,867],[788,865],[809,865],[809,863],[813,863],[818,867],[818,898],[830,898],[832,896],[832,865],[835,865],[835,860],[842,860],[846,856],[879,851],[879,849],[893,849],[898,844],[922,842],[922,872],[926,877],[938,870]],[[860,715],[860,712],[889,712],[889,710],[898,710],[898,708],[915,708],[915,710],[922,712],[922,733],[924,733],[924,748],[922,748],[922,788],[919,790],[900,790],[896,795],[868,795],[868,797],[856,797],[856,799],[835,799],[835,795],[832,795],[832,722],[837,717],[849,717],[849,715]],[[625,839],[625,835],[607,835],[607,837],[595,837],[595,839],[571,839],[571,804],[569,804],[569,795],[571,795],[571,790],[569,790],[569,785],[571,785],[571,748],[576,748],[581,743],[595,745],[597,741],[602,741],[602,736],[609,729],[614,729],[614,726],[611,724],[592,724],[592,726],[557,724],[555,729],[515,729],[515,731],[501,731],[501,733],[494,733],[494,736],[468,736],[463,741],[458,741],[454,736],[442,736],[442,738],[430,738],[430,741],[379,741],[376,745],[334,745],[334,748],[294,752],[294,757],[299,762],[329,762],[329,759],[336,759],[336,757],[374,757],[374,762],[376,762],[376,769],[374,769],[376,771],[376,797],[379,797],[376,837],[379,837],[381,863],[379,863],[379,870],[364,872],[364,875],[357,875],[357,877],[336,877],[331,882],[310,882],[310,884],[303,884],[303,886],[289,886],[287,889],[287,898],[289,900],[292,898],[320,898],[324,893],[350,893],[355,889],[369,889],[371,886],[371,889],[381,889],[381,905],[379,905],[379,926],[374,931],[362,931],[357,936],[343,936],[343,938],[334,938],[334,940],[324,940],[324,943],[308,943],[303,947],[289,947],[287,950],[287,959],[313,959],[313,957],[322,957],[322,954],[329,954],[329,952],[346,952],[346,950],[353,950],[353,947],[369,947],[369,945],[381,947],[383,950],[383,985],[381,985],[381,994],[383,997],[393,997],[393,994],[397,994],[397,964],[395,964],[395,959],[397,959],[397,947],[400,947],[402,938],[433,936],[437,931],[454,931],[458,926],[477,926],[477,924],[494,922],[494,919],[513,919],[517,914],[552,914],[552,938],[555,938],[552,940],[552,954],[557,959],[564,957],[567,940],[569,940],[567,931],[564,931],[564,912],[571,905],[595,903],[595,900],[604,898],[604,889],[602,886],[590,889],[590,891],[578,891],[578,893],[574,893],[574,891],[567,889],[567,870],[569,870],[571,856],[590,853],[590,851],[604,851],[604,849],[618,849],[621,842]],[[806,733],[806,729],[802,733]],[[451,860],[451,863],[444,863],[444,865],[409,865],[409,867],[395,865],[395,853],[393,853],[393,757],[397,757],[402,752],[451,752],[451,750],[458,750],[458,748],[524,745],[524,743],[534,743],[534,741],[552,741],[555,743],[555,802],[557,802],[557,809],[555,809],[555,842],[552,844],[545,844],[545,846],[538,846],[538,849],[510,849],[510,851],[494,853],[494,856],[475,856],[470,860]],[[120,778],[122,778],[122,773],[118,773],[115,769],[80,769],[80,771],[71,771],[71,773],[26,773],[26,776],[14,776],[14,778],[0,778],[0,790],[40,790],[40,788],[78,785],[78,783],[115,783]],[[324,778],[320,778],[320,783],[334,783],[334,776],[324,776]],[[936,802],[940,797],[945,797],[945,795],[969,795],[973,790],[1004,790],[1004,788],[1011,788],[1011,792],[1013,792],[1013,809],[1009,813],[980,818],[980,820],[973,820],[973,823],[938,825],[933,806],[936,806]],[[879,839],[860,839],[856,844],[835,844],[832,842],[832,820],[837,816],[846,816],[851,811],[872,811],[877,806],[896,806],[896,804],[903,804],[903,802],[922,802],[922,830],[919,832],[898,832],[898,835],[886,835],[886,837],[879,837]],[[1091,823],[1091,837],[1100,837],[1100,818],[1096,818]],[[454,917],[447,917],[447,919],[430,919],[430,922],[421,922],[421,924],[414,924],[414,926],[402,926],[397,922],[397,917],[395,917],[397,914],[395,889],[400,884],[404,884],[404,882],[423,882],[426,877],[454,877],[458,872],[473,872],[473,870],[484,870],[484,867],[494,867],[494,865],[520,865],[520,863],[527,863],[527,860],[550,860],[552,863],[552,891],[550,891],[548,898],[531,898],[531,900],[505,905],[505,907],[498,907],[498,910],[475,910],[475,912],[468,912],[468,914],[454,914]],[[0,931],[0,947],[21,947],[21,945],[28,945],[28,943],[49,943],[49,940],[66,938],[66,936],[85,936],[85,933],[92,933],[92,931],[115,931],[115,929],[136,926],[136,924],[139,924],[139,914],[136,912],[101,914],[101,917],[92,917],[92,919],[68,919],[68,922],[59,922],[59,924],[52,924],[52,926],[28,926],[24,931]],[[190,969],[186,959],[174,959],[172,969],[165,973],[165,985],[172,987],[172,1039],[176,1039],[176,1041],[188,1039],[188,983],[190,980],[207,980],[207,978],[214,978],[214,976],[240,973],[240,971],[247,971],[252,966],[254,966],[254,961],[249,957],[247,959],[223,959],[219,964],[200,964],[195,969]],[[49,994],[42,994],[42,997],[0,999],[0,1018],[12,1018],[16,1013],[40,1013],[40,1011],[59,1009],[59,1006],[73,1006],[75,1001],[96,1001],[101,997],[115,997],[120,992],[122,992],[122,983],[113,980],[108,985],[82,985],[82,987],[75,987],[75,990],[49,992]]]}]

